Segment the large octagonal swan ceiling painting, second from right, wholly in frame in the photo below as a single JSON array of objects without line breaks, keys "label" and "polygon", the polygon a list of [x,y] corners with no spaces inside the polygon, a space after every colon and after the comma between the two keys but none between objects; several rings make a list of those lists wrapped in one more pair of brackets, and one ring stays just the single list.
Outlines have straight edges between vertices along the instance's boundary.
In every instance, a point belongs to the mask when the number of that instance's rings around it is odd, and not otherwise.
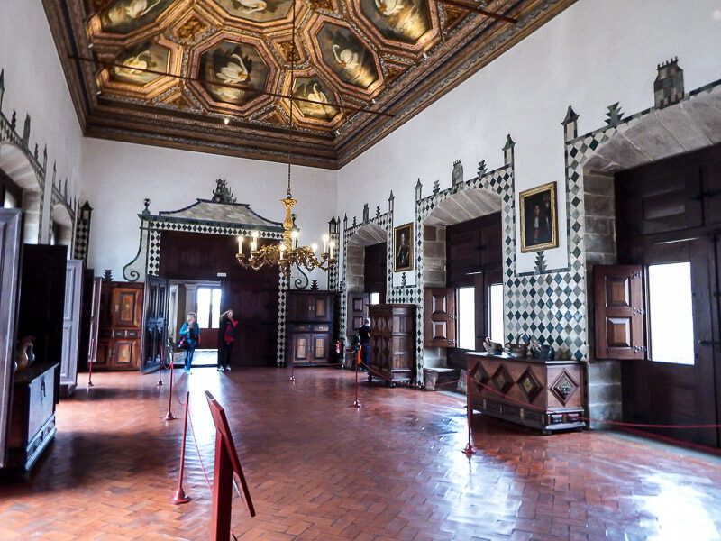
[{"label": "large octagonal swan ceiling painting, second from right, wholly in frame", "polygon": [[325,23],[318,45],[324,63],[349,85],[368,88],[379,79],[370,50],[344,26]]}]

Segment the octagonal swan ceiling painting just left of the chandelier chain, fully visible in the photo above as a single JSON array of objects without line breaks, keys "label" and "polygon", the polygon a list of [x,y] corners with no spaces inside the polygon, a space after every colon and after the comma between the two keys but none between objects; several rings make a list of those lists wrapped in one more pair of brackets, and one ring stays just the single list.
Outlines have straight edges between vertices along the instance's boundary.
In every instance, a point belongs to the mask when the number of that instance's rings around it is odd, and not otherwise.
[{"label": "octagonal swan ceiling painting just left of the chandelier chain, fully visible", "polygon": [[265,89],[268,67],[250,45],[223,41],[200,59],[200,78],[215,101],[245,105]]}]

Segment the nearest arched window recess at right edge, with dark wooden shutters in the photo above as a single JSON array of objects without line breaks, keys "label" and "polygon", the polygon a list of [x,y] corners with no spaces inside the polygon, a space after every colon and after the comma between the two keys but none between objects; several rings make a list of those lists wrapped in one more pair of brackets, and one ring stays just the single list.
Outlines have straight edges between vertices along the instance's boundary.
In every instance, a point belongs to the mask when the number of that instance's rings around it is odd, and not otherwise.
[{"label": "nearest arched window recess at right edge, with dark wooden shutters", "polygon": [[[676,424],[717,423],[721,418],[721,408],[703,407],[716,401],[713,378],[703,374],[721,368],[721,355],[705,345],[714,343],[718,333],[706,327],[718,309],[712,284],[721,275],[719,245],[708,242],[721,223],[716,217],[721,216],[719,103],[721,89],[716,88],[654,110],[613,133],[583,164],[591,417],[652,424],[669,419]],[[604,311],[607,301],[596,294],[603,275],[594,266],[616,263],[638,269],[643,287],[640,304],[634,306],[638,316],[633,325],[641,332],[633,346],[639,349],[628,361],[601,345],[608,323],[596,318],[597,307]],[[666,314],[670,328],[663,333],[673,344],[653,347],[654,326],[663,319],[653,313],[654,306],[662,306],[658,297],[654,300],[653,272],[684,269],[693,289],[687,316],[682,316],[684,276],[676,276],[662,294],[665,298],[674,291]],[[689,329],[686,364],[669,357],[672,346],[682,341],[683,328]],[[708,431],[673,436],[719,443],[707,439]]]}]

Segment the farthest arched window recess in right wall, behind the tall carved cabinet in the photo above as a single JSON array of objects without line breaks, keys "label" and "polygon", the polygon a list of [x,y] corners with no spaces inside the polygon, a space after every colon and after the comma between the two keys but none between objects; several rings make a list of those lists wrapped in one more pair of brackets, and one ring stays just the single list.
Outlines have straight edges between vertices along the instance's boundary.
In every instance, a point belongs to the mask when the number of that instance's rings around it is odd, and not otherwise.
[{"label": "farthest arched window recess in right wall, behind the tall carved cabinet", "polygon": [[388,231],[378,224],[361,225],[348,239],[345,252],[347,298],[346,338],[368,316],[368,306],[386,302]]}]

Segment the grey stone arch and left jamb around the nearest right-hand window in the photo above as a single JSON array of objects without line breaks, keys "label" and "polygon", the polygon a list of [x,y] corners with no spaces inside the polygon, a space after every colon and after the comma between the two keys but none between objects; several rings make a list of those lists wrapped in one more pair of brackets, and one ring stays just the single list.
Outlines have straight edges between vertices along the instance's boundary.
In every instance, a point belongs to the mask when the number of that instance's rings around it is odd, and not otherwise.
[{"label": "grey stone arch and left jamb around the nearest right-hand window", "polygon": [[[578,244],[584,258],[590,345],[595,343],[593,266],[616,263],[615,174],[721,142],[721,86],[699,89],[676,105],[651,109],[581,137],[575,137],[578,117],[568,118],[567,137],[574,134],[566,142],[568,175],[582,186],[580,208],[571,210],[583,216],[579,236],[569,244]],[[588,358],[590,417],[619,419],[619,362],[596,361],[590,346]]]}]

